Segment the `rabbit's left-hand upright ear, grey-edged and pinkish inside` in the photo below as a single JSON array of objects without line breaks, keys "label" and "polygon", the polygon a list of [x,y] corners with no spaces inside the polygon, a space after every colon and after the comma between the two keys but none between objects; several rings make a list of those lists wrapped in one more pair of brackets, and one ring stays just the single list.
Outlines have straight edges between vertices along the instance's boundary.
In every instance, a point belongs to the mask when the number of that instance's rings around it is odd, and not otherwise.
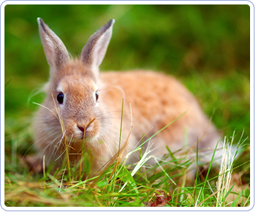
[{"label": "rabbit's left-hand upright ear, grey-edged and pinkish inside", "polygon": [[51,67],[50,70],[51,72],[53,70],[59,70],[69,60],[68,50],[61,39],[50,30],[41,18],[38,18],[37,22],[39,24],[39,33],[45,50],[45,56]]}]

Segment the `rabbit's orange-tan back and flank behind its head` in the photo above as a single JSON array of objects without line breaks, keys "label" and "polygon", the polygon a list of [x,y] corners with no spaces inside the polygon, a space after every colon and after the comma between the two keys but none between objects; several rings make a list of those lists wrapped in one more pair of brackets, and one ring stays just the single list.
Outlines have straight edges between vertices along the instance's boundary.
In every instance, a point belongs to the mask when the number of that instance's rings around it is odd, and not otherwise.
[{"label": "rabbit's orange-tan back and flank behind its head", "polygon": [[[200,149],[215,148],[220,134],[194,96],[174,77],[154,71],[133,70],[104,72],[100,79],[102,99],[110,111],[120,111],[124,98],[124,136],[128,135],[131,127],[131,103],[134,125],[131,147],[137,145],[144,134],[150,137],[177,119],[154,136],[156,153],[167,153],[166,145],[172,151],[183,148],[186,142],[195,147],[197,139],[200,139]],[[119,115],[116,114],[116,118],[118,116],[120,117],[120,112]],[[116,118],[114,122],[117,126],[120,122]]]}]

